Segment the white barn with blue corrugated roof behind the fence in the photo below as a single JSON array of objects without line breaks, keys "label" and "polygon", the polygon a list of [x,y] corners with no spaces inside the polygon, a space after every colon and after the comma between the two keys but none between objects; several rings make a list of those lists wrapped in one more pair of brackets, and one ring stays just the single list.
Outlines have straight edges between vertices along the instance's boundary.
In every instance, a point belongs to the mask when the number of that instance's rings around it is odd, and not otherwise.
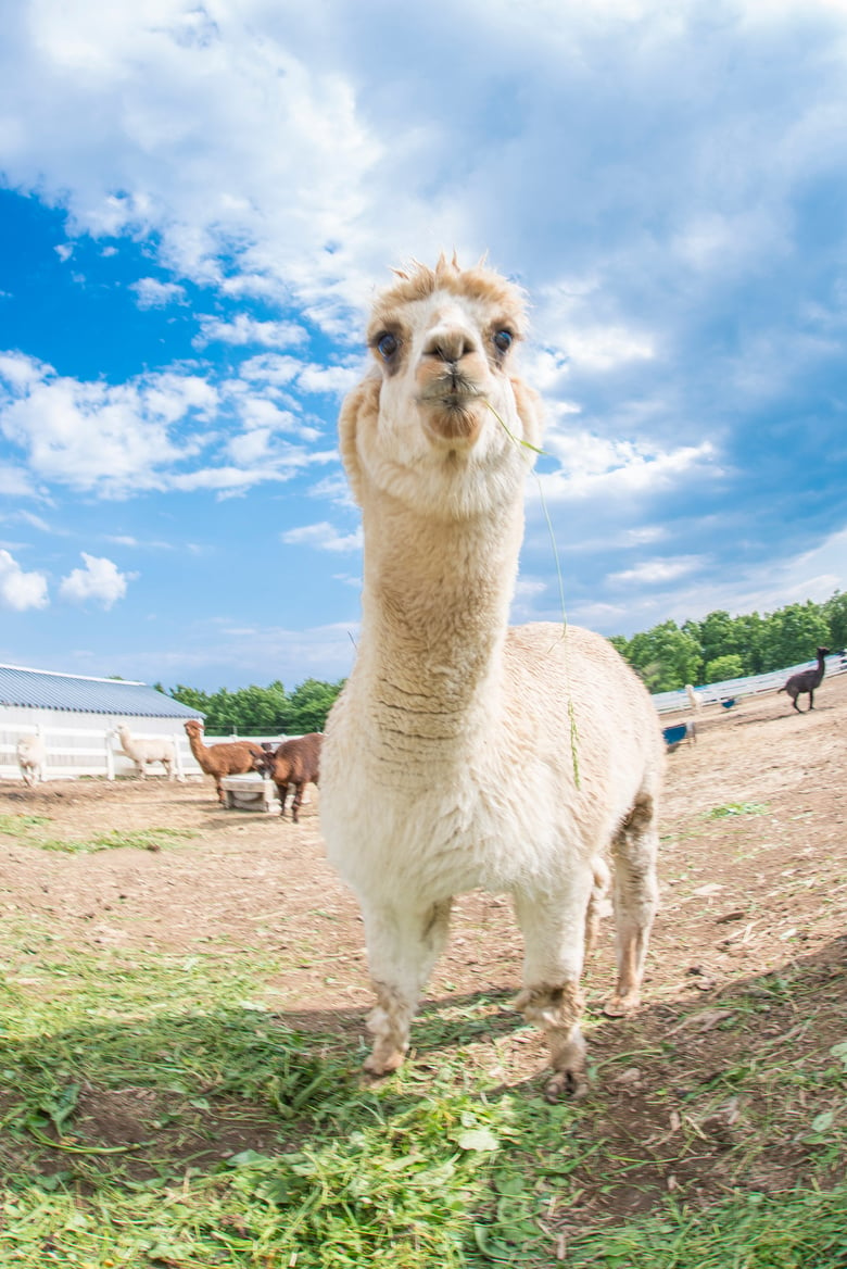
[{"label": "white barn with blue corrugated roof behind the fence", "polygon": [[180,774],[199,775],[184,730],[198,717],[146,683],[0,665],[0,778],[20,778],[18,739],[33,735],[47,749],[47,779],[129,774],[134,766],[114,736],[122,725],[133,736],[172,737]]}]

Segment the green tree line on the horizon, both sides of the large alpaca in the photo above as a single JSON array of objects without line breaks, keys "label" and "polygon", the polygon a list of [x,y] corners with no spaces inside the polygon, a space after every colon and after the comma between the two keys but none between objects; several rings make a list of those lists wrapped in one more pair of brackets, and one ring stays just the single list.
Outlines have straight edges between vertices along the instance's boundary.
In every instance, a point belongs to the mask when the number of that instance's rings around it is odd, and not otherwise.
[{"label": "green tree line on the horizon, both sides of the large alpaca", "polygon": [[[814,660],[818,647],[847,646],[847,593],[837,590],[823,604],[809,599],[763,617],[730,617],[718,609],[701,622],[677,626],[667,621],[631,638],[615,634],[610,642],[650,692],[767,674]],[[279,679],[266,688],[252,684],[236,692],[199,692],[183,684],[166,692],[160,683],[156,688],[205,714],[208,736],[299,736],[323,731],[344,681],[306,679],[293,692]]]}]

